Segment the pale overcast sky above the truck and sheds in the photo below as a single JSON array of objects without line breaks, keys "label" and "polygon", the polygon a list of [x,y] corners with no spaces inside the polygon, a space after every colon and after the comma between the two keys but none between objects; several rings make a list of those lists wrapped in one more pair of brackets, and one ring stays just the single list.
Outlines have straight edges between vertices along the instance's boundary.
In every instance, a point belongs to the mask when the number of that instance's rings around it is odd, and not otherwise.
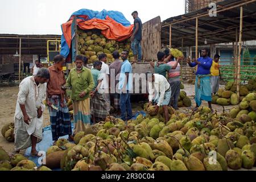
[{"label": "pale overcast sky above the truck and sheds", "polygon": [[184,14],[184,0],[9,0],[0,1],[0,34],[58,34],[60,25],[80,9],[121,11],[133,23],[139,12],[142,22],[160,15],[161,20]]}]

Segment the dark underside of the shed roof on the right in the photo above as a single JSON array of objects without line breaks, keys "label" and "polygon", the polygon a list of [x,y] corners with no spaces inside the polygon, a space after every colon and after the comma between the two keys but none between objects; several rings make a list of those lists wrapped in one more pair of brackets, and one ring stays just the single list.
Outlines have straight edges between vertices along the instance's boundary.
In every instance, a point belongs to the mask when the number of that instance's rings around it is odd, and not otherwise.
[{"label": "dark underside of the shed roof on the right", "polygon": [[256,1],[226,0],[217,3],[217,16],[210,17],[210,8],[193,11],[188,14],[168,18],[162,23],[162,43],[170,44],[170,24],[172,26],[172,46],[195,46],[196,17],[199,19],[198,44],[236,42],[236,30],[240,27],[240,7],[243,6],[242,41],[256,40]]}]

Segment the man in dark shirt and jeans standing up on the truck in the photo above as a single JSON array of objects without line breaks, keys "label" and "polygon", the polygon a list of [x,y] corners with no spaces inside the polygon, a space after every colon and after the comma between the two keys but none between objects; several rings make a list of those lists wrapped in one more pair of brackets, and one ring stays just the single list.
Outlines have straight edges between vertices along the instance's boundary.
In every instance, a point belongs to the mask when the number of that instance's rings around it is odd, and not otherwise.
[{"label": "man in dark shirt and jeans standing up on the truck", "polygon": [[142,40],[142,22],[138,17],[138,12],[132,14],[134,19],[133,35],[131,36],[131,49],[133,50],[134,62],[140,62],[142,59],[141,40]]}]

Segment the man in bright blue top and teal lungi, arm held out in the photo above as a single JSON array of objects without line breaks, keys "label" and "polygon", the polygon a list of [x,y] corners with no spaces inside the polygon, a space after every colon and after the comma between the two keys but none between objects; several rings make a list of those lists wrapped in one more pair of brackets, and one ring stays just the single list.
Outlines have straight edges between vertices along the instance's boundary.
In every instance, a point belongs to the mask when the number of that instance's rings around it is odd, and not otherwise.
[{"label": "man in bright blue top and teal lungi, arm held out", "polygon": [[187,63],[190,67],[197,67],[196,72],[196,82],[195,82],[195,100],[196,100],[196,108],[201,105],[201,101],[208,101],[208,105],[210,110],[212,109],[212,89],[210,87],[210,67],[212,67],[212,59],[208,57],[207,49],[201,50],[201,57],[195,62],[190,61],[187,59]]}]

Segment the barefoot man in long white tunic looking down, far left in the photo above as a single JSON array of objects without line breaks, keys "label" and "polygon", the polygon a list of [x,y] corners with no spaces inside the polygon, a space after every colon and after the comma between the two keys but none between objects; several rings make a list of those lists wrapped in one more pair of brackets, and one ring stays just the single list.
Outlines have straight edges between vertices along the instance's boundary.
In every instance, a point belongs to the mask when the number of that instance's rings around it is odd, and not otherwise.
[{"label": "barefoot man in long white tunic looking down, far left", "polygon": [[14,115],[14,150],[19,153],[30,146],[31,155],[38,156],[36,143],[43,138],[43,111],[46,106],[46,82],[49,71],[42,68],[35,76],[24,78],[19,85],[18,99]]}]

